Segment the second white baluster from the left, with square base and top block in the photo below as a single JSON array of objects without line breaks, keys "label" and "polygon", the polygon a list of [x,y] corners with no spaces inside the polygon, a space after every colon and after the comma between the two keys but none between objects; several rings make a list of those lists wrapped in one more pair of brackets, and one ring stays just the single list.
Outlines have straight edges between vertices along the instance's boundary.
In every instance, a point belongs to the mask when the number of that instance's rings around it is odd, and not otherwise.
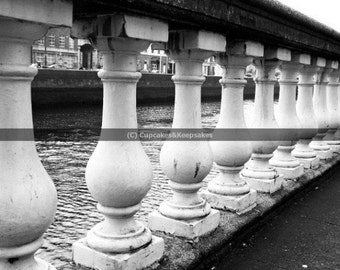
[{"label": "second white baluster from the left, with square base and top block", "polygon": [[119,14],[99,17],[94,29],[104,59],[98,73],[104,85],[103,121],[85,177],[105,219],[74,243],[73,260],[99,270],[141,269],[164,251],[164,241],[133,217],[151,187],[151,163],[139,141],[110,140],[106,129],[137,128],[137,55],[150,44],[145,38],[167,41],[168,29],[158,20]]}]

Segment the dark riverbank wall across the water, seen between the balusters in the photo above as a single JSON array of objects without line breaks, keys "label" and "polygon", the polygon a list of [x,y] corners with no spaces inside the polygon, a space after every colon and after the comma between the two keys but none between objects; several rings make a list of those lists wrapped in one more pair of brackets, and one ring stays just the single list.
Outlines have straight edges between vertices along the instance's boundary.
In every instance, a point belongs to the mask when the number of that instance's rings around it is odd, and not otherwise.
[{"label": "dark riverbank wall across the water, seen between the balusters", "polygon": [[[171,74],[143,73],[137,84],[137,103],[173,103],[175,86]],[[207,76],[202,86],[202,100],[220,100],[221,77]],[[245,99],[254,98],[254,81],[247,80]],[[278,95],[278,87],[275,90]],[[34,108],[101,105],[103,84],[97,71],[39,69],[32,82]]]}]

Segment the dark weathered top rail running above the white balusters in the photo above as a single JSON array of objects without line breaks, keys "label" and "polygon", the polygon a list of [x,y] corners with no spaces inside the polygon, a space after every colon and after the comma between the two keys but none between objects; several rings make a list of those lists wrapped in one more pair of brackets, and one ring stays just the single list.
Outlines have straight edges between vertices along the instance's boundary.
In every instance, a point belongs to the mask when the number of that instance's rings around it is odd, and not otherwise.
[{"label": "dark weathered top rail running above the white balusters", "polygon": [[228,38],[340,59],[340,33],[274,0],[74,0],[75,19],[130,12]]}]

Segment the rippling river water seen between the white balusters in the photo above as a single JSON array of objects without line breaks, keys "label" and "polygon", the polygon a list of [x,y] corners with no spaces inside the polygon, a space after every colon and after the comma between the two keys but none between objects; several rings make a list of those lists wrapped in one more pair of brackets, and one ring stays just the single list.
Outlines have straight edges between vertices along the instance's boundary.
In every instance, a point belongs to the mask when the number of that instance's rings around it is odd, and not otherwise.
[{"label": "rippling river water seen between the white balusters", "polygon": [[[246,107],[251,107],[246,102]],[[216,126],[219,116],[219,102],[203,103],[202,123],[205,128]],[[173,106],[138,107],[138,123],[142,128],[171,127]],[[248,112],[248,113],[247,113]],[[250,115],[250,110],[246,109]],[[60,134],[50,133],[37,138],[37,149],[41,161],[54,181],[58,193],[58,208],[54,223],[46,232],[45,244],[37,256],[51,262],[58,270],[75,269],[72,263],[71,247],[102,216],[96,209],[96,202],[89,194],[85,183],[85,167],[92,154],[98,134],[77,132],[78,127],[95,127],[101,125],[101,108],[43,110],[34,112],[36,128],[75,128],[71,137],[62,138]],[[153,183],[151,190],[142,202],[136,218],[146,222],[147,214],[157,209],[164,198],[171,195],[167,179],[159,166],[159,153],[162,142],[142,142],[153,166]],[[208,181],[216,174],[213,169]]]}]

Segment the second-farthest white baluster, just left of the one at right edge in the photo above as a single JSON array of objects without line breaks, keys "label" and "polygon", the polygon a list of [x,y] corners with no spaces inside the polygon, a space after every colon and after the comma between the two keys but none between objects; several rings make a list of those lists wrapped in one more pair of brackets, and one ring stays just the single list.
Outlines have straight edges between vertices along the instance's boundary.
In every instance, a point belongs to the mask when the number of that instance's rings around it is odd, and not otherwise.
[{"label": "second-farthest white baluster, just left of the one at right edge", "polygon": [[326,59],[319,58],[318,62],[320,69],[316,74],[313,93],[313,107],[318,122],[318,133],[309,145],[320,159],[327,160],[331,159],[333,156],[333,152],[329,145],[323,140],[328,130],[329,114],[327,110],[326,89],[328,84],[328,73],[330,70],[326,67]]}]

